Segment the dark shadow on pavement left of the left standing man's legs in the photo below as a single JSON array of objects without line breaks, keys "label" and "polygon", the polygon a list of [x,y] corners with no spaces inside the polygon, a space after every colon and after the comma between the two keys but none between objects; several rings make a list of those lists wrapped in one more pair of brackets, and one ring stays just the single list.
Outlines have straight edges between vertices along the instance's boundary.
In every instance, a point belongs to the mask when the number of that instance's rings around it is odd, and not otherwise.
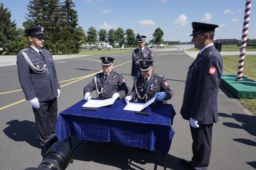
[{"label": "dark shadow on pavement left of the left standing man's legs", "polygon": [[6,124],[9,125],[3,130],[6,136],[10,137],[14,141],[24,141],[33,147],[41,148],[36,137],[35,123],[28,120],[11,120]]}]

